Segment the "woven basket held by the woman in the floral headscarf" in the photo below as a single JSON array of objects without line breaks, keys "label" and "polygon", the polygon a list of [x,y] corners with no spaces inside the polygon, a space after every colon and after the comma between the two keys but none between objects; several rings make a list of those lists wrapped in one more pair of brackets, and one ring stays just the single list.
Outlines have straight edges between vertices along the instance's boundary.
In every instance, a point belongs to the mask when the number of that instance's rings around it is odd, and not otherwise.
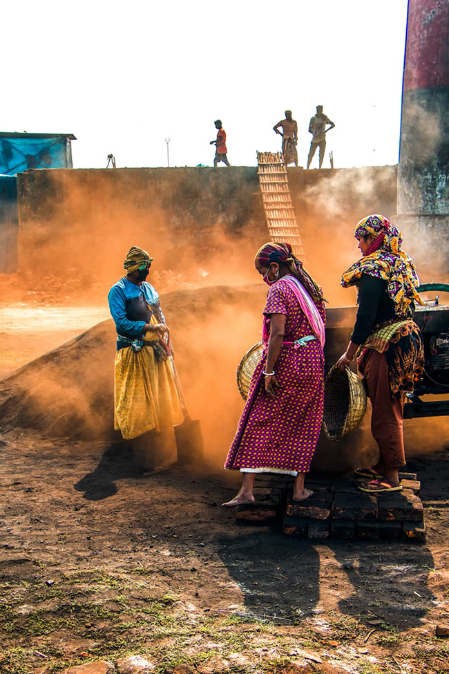
[{"label": "woven basket held by the woman in the floral headscarf", "polygon": [[334,365],[324,382],[323,428],[329,440],[340,440],[359,426],[366,411],[366,391],[350,368]]}]

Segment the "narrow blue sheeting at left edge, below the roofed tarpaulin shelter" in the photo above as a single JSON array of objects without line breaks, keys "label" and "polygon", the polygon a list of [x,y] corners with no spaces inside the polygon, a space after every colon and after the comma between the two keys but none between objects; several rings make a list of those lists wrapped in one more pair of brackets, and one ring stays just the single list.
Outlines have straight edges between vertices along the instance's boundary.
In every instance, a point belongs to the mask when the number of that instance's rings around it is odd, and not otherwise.
[{"label": "narrow blue sheeting at left edge, below the roofed tarpaulin shelter", "polygon": [[14,274],[17,259],[17,178],[0,175],[0,274]]}]

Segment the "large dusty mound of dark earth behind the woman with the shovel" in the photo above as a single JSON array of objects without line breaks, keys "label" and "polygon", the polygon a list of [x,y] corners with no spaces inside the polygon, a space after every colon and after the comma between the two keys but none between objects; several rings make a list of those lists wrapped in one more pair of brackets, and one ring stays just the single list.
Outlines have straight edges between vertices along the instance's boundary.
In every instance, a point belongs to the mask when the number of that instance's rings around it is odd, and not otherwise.
[{"label": "large dusty mound of dark earth behind the woman with the shovel", "polygon": [[[213,286],[161,297],[189,411],[206,426],[227,411],[238,417],[234,373],[260,339],[265,294],[260,285]],[[46,437],[111,438],[114,357],[115,326],[108,320],[23,366],[0,384],[1,427],[37,429]]]}]

